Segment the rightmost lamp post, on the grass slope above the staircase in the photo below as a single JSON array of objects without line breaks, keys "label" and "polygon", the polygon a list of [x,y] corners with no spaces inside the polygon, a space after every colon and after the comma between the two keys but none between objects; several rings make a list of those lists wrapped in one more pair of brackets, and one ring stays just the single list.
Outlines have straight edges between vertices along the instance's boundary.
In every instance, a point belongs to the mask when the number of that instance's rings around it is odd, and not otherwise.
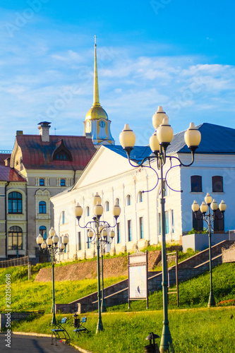
[{"label": "rightmost lamp post, on the grass slope above the staircase", "polygon": [[[210,208],[212,210],[212,213],[210,211]],[[210,296],[209,296],[209,301],[208,301],[208,307],[210,306],[215,306],[215,298],[213,294],[213,286],[212,286],[212,254],[211,254],[211,229],[214,229],[212,226],[212,222],[215,222],[215,213],[217,210],[220,210],[222,213],[221,218],[217,218],[217,220],[222,220],[224,218],[224,212],[227,208],[226,203],[222,200],[221,203],[219,203],[219,206],[217,202],[215,201],[215,198],[212,201],[212,197],[210,196],[210,193],[207,193],[205,196],[205,202],[200,205],[198,205],[197,201],[193,201],[192,205],[192,210],[195,214],[195,218],[197,220],[203,220],[207,222],[207,229],[208,229],[208,237],[209,237],[209,261],[210,261]],[[198,217],[198,211],[200,209],[200,212],[202,215]]]}]

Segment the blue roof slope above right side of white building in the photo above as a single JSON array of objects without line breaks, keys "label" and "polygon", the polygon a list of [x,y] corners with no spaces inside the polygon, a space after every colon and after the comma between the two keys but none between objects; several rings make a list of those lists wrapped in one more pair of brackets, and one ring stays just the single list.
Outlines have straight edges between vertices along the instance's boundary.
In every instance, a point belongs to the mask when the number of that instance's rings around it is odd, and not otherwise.
[{"label": "blue roof slope above right side of white building", "polygon": [[[203,123],[196,126],[201,133],[202,139],[196,153],[235,155],[235,129],[215,124]],[[171,145],[167,148],[167,154],[191,153],[184,142],[184,133],[176,133]]]}]

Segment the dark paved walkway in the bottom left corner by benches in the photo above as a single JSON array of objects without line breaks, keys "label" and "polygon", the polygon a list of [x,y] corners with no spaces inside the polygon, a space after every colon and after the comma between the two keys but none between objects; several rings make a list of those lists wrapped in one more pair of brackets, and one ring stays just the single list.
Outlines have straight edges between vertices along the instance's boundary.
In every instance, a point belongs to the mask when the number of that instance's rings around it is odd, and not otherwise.
[{"label": "dark paved walkway in the bottom left corner by benches", "polygon": [[11,347],[6,347],[5,334],[0,334],[1,353],[81,353],[78,349],[65,345],[63,342],[58,341],[57,346],[51,345],[50,337],[14,335],[13,333],[11,333]]}]

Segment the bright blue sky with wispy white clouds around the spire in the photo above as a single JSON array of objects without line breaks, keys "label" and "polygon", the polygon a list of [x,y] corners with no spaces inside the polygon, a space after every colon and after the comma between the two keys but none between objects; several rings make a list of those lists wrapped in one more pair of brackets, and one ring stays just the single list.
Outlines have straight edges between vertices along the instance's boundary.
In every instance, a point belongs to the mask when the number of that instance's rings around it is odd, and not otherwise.
[{"label": "bright blue sky with wispy white clouds around the spire", "polygon": [[175,133],[191,121],[235,128],[234,9],[215,0],[1,0],[0,149],[44,120],[53,134],[83,135],[94,35],[117,144],[126,122],[148,143],[158,105]]}]

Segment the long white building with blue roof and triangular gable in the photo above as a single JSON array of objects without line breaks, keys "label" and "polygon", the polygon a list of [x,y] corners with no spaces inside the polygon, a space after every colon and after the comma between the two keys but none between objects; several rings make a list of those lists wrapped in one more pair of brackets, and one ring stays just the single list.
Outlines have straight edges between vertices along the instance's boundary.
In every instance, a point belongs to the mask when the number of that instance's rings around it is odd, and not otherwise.
[{"label": "long white building with blue roof and triangular gable", "polygon": [[[198,128],[202,141],[196,151],[195,162],[191,167],[172,168],[167,173],[167,182],[164,182],[167,241],[180,241],[181,236],[193,227],[198,230],[205,227],[203,222],[193,219],[191,204],[194,200],[200,204],[207,192],[217,203],[222,200],[227,203],[224,220],[215,222],[216,232],[224,233],[235,227],[235,130],[214,124],[202,124]],[[184,132],[181,132],[174,136],[167,154],[179,157],[184,164],[189,164],[191,153],[184,143],[183,134]],[[137,161],[138,166],[138,160],[150,153],[148,147],[135,147],[131,157]],[[171,162],[172,166],[179,164],[174,158],[168,158],[164,166],[165,172]],[[156,161],[152,160],[151,165],[156,167]],[[116,236],[111,246],[112,253],[161,241],[159,183],[157,186],[156,184],[155,172],[150,168],[131,167],[121,146],[100,147],[76,184],[51,198],[54,204],[56,232],[59,237],[63,234],[68,234],[69,237],[69,246],[64,258],[89,258],[95,254],[94,246],[88,243],[88,229],[78,227],[73,211],[76,203],[80,203],[83,207],[80,224],[85,225],[92,220],[92,199],[96,192],[100,194],[104,206],[102,220],[114,224],[112,208],[116,200],[121,207],[121,215],[115,228]],[[143,193],[151,189],[153,190]],[[182,193],[176,192],[181,189]],[[109,250],[110,246],[107,248],[107,251]]]}]

